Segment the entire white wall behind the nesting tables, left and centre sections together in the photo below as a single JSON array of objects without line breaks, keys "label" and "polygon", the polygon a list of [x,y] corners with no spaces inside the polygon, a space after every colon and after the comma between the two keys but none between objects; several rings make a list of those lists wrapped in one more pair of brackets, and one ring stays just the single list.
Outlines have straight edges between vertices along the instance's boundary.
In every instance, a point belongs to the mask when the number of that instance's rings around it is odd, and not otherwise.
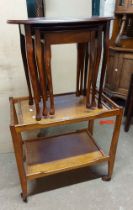
[{"label": "entire white wall behind the nesting tables, left and centre sections together", "polygon": [[[91,0],[46,0],[47,16],[89,16]],[[19,48],[18,27],[7,19],[27,17],[26,0],[0,1],[0,153],[11,152],[9,96],[27,95]],[[54,46],[52,52],[54,92],[75,90],[76,47]]]}]

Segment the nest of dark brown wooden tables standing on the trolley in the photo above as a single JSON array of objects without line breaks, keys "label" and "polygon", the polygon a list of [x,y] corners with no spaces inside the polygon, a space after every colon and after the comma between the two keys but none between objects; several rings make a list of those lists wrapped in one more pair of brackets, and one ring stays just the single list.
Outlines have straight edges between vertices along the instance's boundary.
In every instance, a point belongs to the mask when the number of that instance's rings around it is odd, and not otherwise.
[{"label": "nest of dark brown wooden tables standing on the trolley", "polygon": [[[77,96],[85,92],[86,106],[95,108],[96,82],[103,50],[103,62],[101,69],[98,107],[101,107],[101,95],[103,92],[103,82],[105,77],[106,64],[109,47],[109,27],[110,17],[92,18],[31,18],[28,20],[9,20],[10,24],[17,24],[19,29],[23,28],[25,37],[26,63],[25,75],[29,89],[29,100],[32,104],[32,91],[36,106],[36,120],[41,120],[40,98],[43,99],[43,115],[47,116],[46,100],[50,98],[49,113],[54,115],[53,84],[51,73],[51,45],[78,43],[78,64],[77,64]],[[21,31],[20,31],[20,37]],[[103,35],[103,36],[102,36]],[[103,39],[102,39],[103,37]],[[20,39],[22,41],[22,39]],[[34,40],[34,41],[33,41]],[[84,49],[83,44],[90,43],[89,50],[89,72],[83,72]],[[42,49],[42,43],[44,49]],[[102,45],[103,43],[103,45]],[[23,42],[24,45],[24,42]],[[22,43],[21,43],[22,48]],[[62,55],[63,56],[63,55]],[[44,60],[44,61],[43,61]],[[44,74],[44,69],[46,75]],[[83,79],[84,75],[84,79]],[[29,78],[30,77],[30,78]],[[45,77],[45,78],[44,78]],[[59,78],[60,79],[60,78]],[[83,88],[84,80],[84,88]],[[30,86],[31,83],[31,86]],[[47,91],[48,87],[48,91]],[[92,100],[90,100],[90,90],[92,87]],[[84,89],[84,91],[83,91]]]}]

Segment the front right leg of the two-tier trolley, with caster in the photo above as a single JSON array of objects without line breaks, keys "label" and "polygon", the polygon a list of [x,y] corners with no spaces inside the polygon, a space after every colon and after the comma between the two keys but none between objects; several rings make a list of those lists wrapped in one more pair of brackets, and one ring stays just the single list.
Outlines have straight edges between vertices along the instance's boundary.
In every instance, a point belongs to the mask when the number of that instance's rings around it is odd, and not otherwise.
[{"label": "front right leg of the two-tier trolley, with caster", "polygon": [[114,127],[112,142],[110,146],[110,152],[109,152],[110,159],[108,161],[108,175],[102,177],[103,181],[111,180],[111,176],[112,176],[113,168],[114,168],[114,161],[115,161],[115,156],[116,156],[118,138],[120,134],[122,116],[123,116],[123,109],[121,108],[119,115],[116,116],[115,127]]}]

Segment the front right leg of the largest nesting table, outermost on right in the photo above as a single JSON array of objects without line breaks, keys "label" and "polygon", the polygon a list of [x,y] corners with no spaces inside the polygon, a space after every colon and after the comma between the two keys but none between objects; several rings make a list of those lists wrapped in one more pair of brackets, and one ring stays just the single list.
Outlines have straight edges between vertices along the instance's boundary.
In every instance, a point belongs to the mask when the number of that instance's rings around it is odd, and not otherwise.
[{"label": "front right leg of the largest nesting table, outermost on right", "polygon": [[110,28],[110,22],[107,22],[104,28],[104,37],[103,37],[104,47],[103,47],[103,60],[102,60],[102,70],[101,70],[100,87],[99,87],[99,97],[98,97],[98,108],[102,108],[101,98],[103,93],[103,83],[104,83],[105,71],[109,57],[109,28]]}]

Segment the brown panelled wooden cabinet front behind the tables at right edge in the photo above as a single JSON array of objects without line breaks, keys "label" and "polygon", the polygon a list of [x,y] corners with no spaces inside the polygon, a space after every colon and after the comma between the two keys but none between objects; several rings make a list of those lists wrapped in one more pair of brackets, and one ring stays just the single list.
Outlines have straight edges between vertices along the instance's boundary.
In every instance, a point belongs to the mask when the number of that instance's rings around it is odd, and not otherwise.
[{"label": "brown panelled wooden cabinet front behind the tables at right edge", "polygon": [[110,50],[104,91],[112,97],[126,100],[133,73],[133,53]]}]

